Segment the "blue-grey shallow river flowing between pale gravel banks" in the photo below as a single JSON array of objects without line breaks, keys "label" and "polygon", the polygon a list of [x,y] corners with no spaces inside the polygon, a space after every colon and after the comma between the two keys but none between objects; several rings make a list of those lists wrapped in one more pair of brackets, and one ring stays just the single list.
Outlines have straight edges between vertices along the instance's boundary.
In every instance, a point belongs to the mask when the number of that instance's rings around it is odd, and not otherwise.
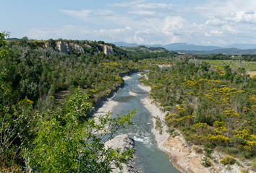
[{"label": "blue-grey shallow river flowing between pale gravel banks", "polygon": [[[133,125],[126,129],[119,130],[119,134],[127,133],[135,139],[135,167],[145,173],[178,173],[171,162],[168,160],[168,155],[160,151],[156,147],[154,136],[151,133],[153,123],[151,115],[145,109],[140,99],[148,96],[148,92],[140,89],[140,75],[132,74],[132,79],[124,81],[124,87],[114,97],[114,101],[119,102],[119,105],[114,107],[112,111],[114,115],[126,115],[129,110],[137,110],[136,117],[133,120]],[[134,96],[131,96],[132,92]],[[136,96],[135,96],[136,95]]]}]

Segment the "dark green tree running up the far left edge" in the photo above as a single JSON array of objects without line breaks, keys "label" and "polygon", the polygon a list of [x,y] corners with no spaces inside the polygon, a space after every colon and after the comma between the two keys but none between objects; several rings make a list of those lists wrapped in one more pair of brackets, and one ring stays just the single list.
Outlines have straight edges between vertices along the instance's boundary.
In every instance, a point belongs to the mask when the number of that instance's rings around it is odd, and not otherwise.
[{"label": "dark green tree running up the far left edge", "polygon": [[[0,172],[21,172],[22,146],[27,140],[30,127],[30,110],[33,102],[23,99],[15,102],[17,92],[12,88],[9,71],[12,54],[4,38],[9,32],[0,32]],[[5,63],[9,62],[9,63]]]}]

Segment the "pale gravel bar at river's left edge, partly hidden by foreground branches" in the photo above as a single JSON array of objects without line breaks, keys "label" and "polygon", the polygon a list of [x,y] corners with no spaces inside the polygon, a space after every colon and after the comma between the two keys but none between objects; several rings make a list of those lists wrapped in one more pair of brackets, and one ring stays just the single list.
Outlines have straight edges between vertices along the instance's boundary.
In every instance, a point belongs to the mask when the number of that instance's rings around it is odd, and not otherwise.
[{"label": "pale gravel bar at river's left edge, partly hidden by foreground branches", "polygon": [[[105,147],[111,148],[121,148],[121,151],[127,151],[130,148],[135,148],[135,141],[132,138],[129,138],[127,134],[116,136],[115,138],[107,141],[105,143]],[[124,167],[122,172],[123,173],[138,173],[139,171],[134,167],[132,161],[129,161],[127,164],[122,164]],[[114,164],[111,166],[114,168]],[[121,172],[120,169],[114,169],[112,172],[119,173]]]}]

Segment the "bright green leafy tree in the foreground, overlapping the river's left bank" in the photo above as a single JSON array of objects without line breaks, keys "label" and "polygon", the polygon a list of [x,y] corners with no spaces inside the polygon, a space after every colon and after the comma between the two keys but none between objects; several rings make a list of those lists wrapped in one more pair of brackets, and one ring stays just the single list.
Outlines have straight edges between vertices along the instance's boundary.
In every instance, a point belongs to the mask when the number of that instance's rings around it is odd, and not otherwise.
[{"label": "bright green leafy tree in the foreground, overlapping the river's left bank", "polygon": [[61,110],[46,113],[38,123],[37,137],[26,152],[27,165],[35,172],[111,172],[111,164],[121,168],[132,158],[133,150],[121,152],[104,143],[117,129],[132,124],[135,111],[116,118],[108,113],[80,123],[91,109],[87,99],[78,88]]}]

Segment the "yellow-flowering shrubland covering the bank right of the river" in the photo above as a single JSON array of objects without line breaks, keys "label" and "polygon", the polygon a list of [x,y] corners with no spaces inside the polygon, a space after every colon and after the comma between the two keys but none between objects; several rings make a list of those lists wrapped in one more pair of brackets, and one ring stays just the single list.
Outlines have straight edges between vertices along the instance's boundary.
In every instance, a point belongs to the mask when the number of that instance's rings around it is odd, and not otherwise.
[{"label": "yellow-flowering shrubland covering the bank right of the river", "polygon": [[167,112],[166,124],[181,130],[187,142],[255,160],[256,79],[244,68],[182,56],[146,75],[141,81]]}]

